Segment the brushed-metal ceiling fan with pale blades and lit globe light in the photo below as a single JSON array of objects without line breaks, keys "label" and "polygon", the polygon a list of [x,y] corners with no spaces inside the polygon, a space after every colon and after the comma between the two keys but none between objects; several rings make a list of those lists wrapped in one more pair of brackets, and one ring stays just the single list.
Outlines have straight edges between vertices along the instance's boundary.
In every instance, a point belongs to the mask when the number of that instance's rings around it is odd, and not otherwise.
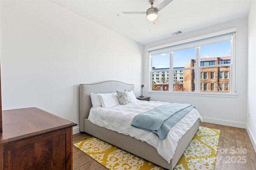
[{"label": "brushed-metal ceiling fan with pale blades and lit globe light", "polygon": [[164,0],[161,4],[156,7],[153,7],[155,0],[149,0],[150,8],[146,12],[123,12],[123,14],[146,14],[149,21],[156,20],[158,12],[170,4],[173,0]]}]

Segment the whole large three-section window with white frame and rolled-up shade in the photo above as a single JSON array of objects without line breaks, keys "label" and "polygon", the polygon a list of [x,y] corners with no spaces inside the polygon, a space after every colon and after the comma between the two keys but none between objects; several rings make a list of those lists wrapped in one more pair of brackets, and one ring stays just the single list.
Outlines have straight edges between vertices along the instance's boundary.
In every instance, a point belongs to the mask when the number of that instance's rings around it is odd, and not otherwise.
[{"label": "whole large three-section window with white frame and rolled-up shade", "polygon": [[[148,49],[151,91],[158,91],[165,85],[170,92],[234,93],[235,43],[232,42],[236,34],[231,30],[234,29],[216,33],[214,37],[205,35],[203,39],[196,37],[194,41],[184,40]],[[156,80],[156,72],[162,73],[159,80]]]}]

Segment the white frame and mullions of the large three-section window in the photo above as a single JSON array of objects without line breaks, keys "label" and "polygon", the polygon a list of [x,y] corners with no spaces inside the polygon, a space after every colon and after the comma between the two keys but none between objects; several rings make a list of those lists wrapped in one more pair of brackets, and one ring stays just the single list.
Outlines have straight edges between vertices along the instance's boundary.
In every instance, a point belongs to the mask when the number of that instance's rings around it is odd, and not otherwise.
[{"label": "white frame and mullions of the large three-section window", "polygon": [[[173,79],[173,74],[169,74],[169,77],[168,79],[170,80],[169,81],[169,90],[168,92],[164,92],[165,94],[177,94],[177,95],[196,95],[196,96],[219,96],[219,95],[225,95],[225,96],[231,96],[231,97],[236,97],[236,77],[235,77],[235,73],[236,73],[236,54],[235,54],[235,49],[236,49],[236,28],[233,28],[233,29],[228,29],[228,30],[224,30],[224,31],[219,31],[219,32],[216,32],[216,33],[211,33],[211,34],[207,34],[207,35],[202,35],[202,36],[199,36],[199,37],[194,37],[192,39],[186,39],[186,40],[182,40],[182,41],[178,41],[176,43],[170,43],[170,44],[166,44],[166,45],[161,45],[161,46],[158,46],[158,47],[153,47],[153,48],[150,48],[148,49],[148,52],[150,54],[150,70],[152,70],[152,55],[151,55],[151,51],[157,51],[158,49],[164,49],[166,50],[168,47],[172,47],[172,46],[182,46],[183,44],[186,44],[186,43],[192,43],[193,41],[200,41],[202,39],[207,39],[207,38],[212,38],[212,37],[222,37],[222,36],[225,36],[225,34],[228,34],[228,35],[231,35],[231,41],[230,41],[230,64],[217,64],[217,65],[209,65],[209,66],[201,66],[201,63],[199,60],[199,57],[196,56],[196,67],[191,67],[191,68],[186,68],[186,69],[195,69],[195,72],[196,72],[196,76],[195,76],[195,83],[196,83],[196,87],[195,87],[195,91],[192,91],[192,92],[176,92],[176,91],[173,91],[173,83],[170,83],[172,82],[174,79]],[[218,38],[217,38],[218,39]],[[219,42],[222,42],[222,41],[219,41]],[[218,41],[216,43],[219,43]],[[213,44],[213,43],[210,43],[210,44]],[[184,48],[184,49],[188,49],[188,48]],[[160,50],[160,51],[161,51]],[[196,55],[198,55],[198,51],[200,50],[200,47],[196,47]],[[170,52],[170,55],[173,55],[173,51],[168,51]],[[166,52],[167,53],[167,52]],[[159,53],[161,54],[161,52]],[[156,55],[156,54],[154,54]],[[169,72],[172,72],[172,70],[175,70],[173,67],[172,67],[172,59],[173,59],[173,56],[170,57],[170,69],[168,70]],[[204,80],[203,79],[200,79],[200,68],[207,68],[207,67],[222,67],[222,66],[229,66],[230,68],[230,71],[229,71],[229,75],[228,75],[228,79],[229,79],[229,92],[225,92],[225,93],[220,93],[220,92],[209,92],[209,93],[206,93],[206,92],[201,92],[200,88],[202,88],[202,86],[200,87],[200,80]],[[151,71],[150,71],[151,72]],[[224,72],[223,72],[224,73]],[[215,74],[215,73],[214,73]],[[150,74],[152,75],[152,74]],[[208,78],[208,75],[207,75],[207,78]],[[224,78],[224,75],[223,75],[223,79]],[[154,91],[152,90],[152,77],[150,77],[149,79],[150,81],[150,85],[149,85],[149,93],[152,93],[152,94],[155,94],[155,93],[163,93],[163,92],[159,92],[159,91]],[[223,85],[222,85],[223,86]]]}]

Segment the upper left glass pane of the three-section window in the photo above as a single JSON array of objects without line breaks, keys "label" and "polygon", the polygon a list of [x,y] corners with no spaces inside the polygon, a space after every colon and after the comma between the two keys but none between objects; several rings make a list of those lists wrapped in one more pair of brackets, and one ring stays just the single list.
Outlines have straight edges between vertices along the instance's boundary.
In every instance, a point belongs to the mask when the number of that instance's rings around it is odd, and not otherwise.
[{"label": "upper left glass pane of the three-section window", "polygon": [[153,55],[152,68],[170,68],[170,53]]}]

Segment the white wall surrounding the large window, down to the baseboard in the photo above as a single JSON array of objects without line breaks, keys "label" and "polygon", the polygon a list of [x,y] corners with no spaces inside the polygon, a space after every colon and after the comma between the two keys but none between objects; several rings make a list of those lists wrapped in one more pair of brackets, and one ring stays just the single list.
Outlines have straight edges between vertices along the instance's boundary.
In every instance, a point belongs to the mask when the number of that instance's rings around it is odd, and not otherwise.
[{"label": "white wall surrounding the large window, down to the baseboard", "polygon": [[[151,96],[151,100],[191,103],[196,106],[204,121],[221,125],[246,128],[246,98],[247,98],[247,20],[236,20],[220,25],[215,25],[192,33],[182,33],[169,39],[149,43],[144,47],[144,85],[149,90],[150,76],[148,48],[164,45],[176,41],[181,41],[217,31],[237,28],[236,33],[236,78],[237,97],[207,97],[207,96],[182,96],[163,95],[148,93],[144,96]],[[146,91],[145,90],[145,91]]]}]

